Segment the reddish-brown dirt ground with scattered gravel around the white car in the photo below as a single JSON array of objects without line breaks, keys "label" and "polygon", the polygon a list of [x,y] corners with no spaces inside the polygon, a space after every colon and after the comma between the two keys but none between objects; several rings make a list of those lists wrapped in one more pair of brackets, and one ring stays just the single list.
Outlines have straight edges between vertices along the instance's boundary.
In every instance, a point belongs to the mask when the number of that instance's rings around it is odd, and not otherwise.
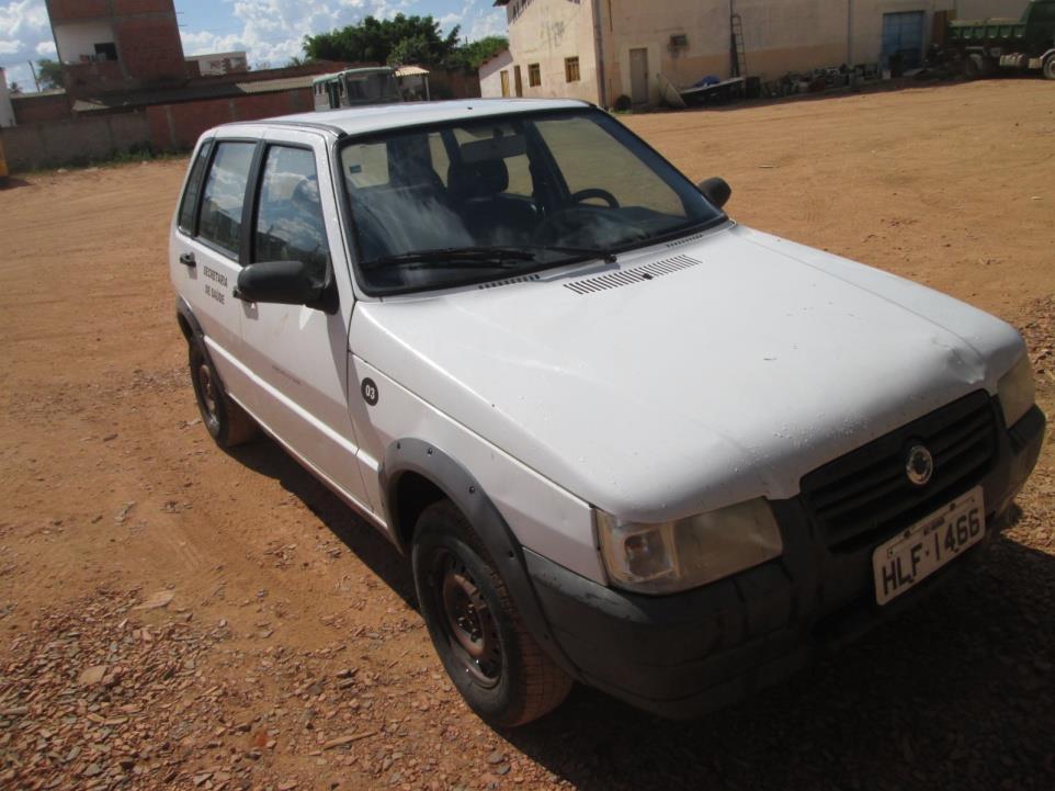
[{"label": "reddish-brown dirt ground with scattered gravel around the white car", "polygon": [[[740,222],[1014,324],[1055,414],[1055,86],[628,123]],[[206,436],[166,264],[184,168],[0,190],[0,787],[1053,788],[1051,437],[985,566],[791,682],[693,723],[577,689],[496,733],[395,550],[272,442]]]}]

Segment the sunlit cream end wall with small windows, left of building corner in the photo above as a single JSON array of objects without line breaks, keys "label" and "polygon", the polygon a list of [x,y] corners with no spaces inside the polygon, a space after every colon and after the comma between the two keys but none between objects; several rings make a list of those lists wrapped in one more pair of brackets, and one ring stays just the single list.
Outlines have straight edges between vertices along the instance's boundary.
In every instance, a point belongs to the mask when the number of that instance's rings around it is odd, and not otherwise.
[{"label": "sunlit cream end wall with small windows, left of building corner", "polygon": [[[515,67],[519,66],[525,97],[598,101],[593,3],[599,1],[532,0],[506,7],[507,19],[510,20],[509,50],[513,58],[509,66],[510,95],[517,95]],[[565,79],[565,58],[568,57],[579,58],[580,78],[577,82]],[[538,64],[542,70],[542,84],[535,88],[529,86],[528,79],[532,64]],[[489,79],[485,97],[501,95],[500,88],[497,94],[491,93],[494,84],[500,86]]]}]

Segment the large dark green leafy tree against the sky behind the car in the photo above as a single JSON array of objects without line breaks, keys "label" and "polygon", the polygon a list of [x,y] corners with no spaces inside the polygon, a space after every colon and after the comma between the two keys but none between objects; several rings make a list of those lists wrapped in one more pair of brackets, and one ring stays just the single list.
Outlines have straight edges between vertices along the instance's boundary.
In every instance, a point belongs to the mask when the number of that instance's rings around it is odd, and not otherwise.
[{"label": "large dark green leafy tree against the sky behind the car", "polygon": [[442,35],[440,23],[432,16],[396,14],[390,20],[367,16],[356,25],[305,36],[304,52],[316,60],[378,64],[389,63],[395,53],[408,58],[404,63],[439,65],[457,48],[458,33],[460,29],[454,27]]}]

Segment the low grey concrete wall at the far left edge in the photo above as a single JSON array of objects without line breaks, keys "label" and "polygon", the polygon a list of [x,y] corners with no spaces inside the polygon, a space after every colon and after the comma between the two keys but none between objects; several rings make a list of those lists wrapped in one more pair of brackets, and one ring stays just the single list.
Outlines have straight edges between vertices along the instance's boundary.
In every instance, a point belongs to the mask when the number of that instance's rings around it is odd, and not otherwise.
[{"label": "low grey concrete wall at the far left edge", "polygon": [[0,131],[11,172],[106,159],[149,143],[146,113],[22,124]]}]

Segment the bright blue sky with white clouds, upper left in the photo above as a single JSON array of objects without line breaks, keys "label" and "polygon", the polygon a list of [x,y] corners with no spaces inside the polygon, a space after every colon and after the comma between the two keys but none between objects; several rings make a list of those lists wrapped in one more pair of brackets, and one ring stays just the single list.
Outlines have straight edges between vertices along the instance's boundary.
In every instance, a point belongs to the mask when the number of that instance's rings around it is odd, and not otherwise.
[{"label": "bright blue sky with white clouds, upper left", "polygon": [[[506,10],[494,0],[175,0],[186,55],[245,49],[258,68],[284,65],[300,54],[307,33],[343,27],[364,16],[434,16],[469,41],[506,34]],[[26,61],[54,58],[55,41],[44,0],[0,0],[0,66],[8,84],[33,90]]]}]

